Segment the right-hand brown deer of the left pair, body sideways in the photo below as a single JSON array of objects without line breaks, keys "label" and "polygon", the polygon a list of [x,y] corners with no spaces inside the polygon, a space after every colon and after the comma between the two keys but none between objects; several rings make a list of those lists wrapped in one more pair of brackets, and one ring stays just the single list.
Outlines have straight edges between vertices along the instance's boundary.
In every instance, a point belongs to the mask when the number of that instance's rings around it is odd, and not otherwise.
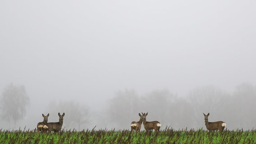
[{"label": "right-hand brown deer of the left pair, body sideways", "polygon": [[48,133],[50,133],[51,131],[59,132],[59,130],[61,130],[61,127],[63,124],[63,117],[64,117],[65,113],[63,113],[62,115],[60,115],[60,113],[58,113],[58,115],[59,115],[59,122],[46,123],[46,125],[43,127],[45,129],[45,131],[48,131]]}]

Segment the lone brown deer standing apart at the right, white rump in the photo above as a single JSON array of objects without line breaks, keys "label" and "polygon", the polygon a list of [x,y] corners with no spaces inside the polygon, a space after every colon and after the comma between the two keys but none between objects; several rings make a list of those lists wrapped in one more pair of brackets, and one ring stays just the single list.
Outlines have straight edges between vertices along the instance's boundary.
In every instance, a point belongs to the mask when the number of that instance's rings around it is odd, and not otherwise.
[{"label": "lone brown deer standing apart at the right, white rump", "polygon": [[212,130],[223,131],[224,128],[226,127],[226,123],[223,122],[223,121],[209,122],[208,121],[208,116],[209,115],[210,115],[210,113],[208,113],[207,115],[204,114],[204,116],[205,116],[205,123],[206,123],[206,129],[209,130],[209,131],[212,131]]}]

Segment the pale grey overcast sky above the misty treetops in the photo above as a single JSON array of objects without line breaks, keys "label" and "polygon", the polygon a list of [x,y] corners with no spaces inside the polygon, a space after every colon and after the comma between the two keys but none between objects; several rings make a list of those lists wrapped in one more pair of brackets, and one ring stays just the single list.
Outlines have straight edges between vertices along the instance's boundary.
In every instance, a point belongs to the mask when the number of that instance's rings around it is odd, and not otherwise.
[{"label": "pale grey overcast sky above the misty treetops", "polygon": [[98,106],[126,88],[184,96],[201,85],[256,84],[255,8],[255,0],[1,0],[0,92],[24,85],[34,108],[41,97]]}]

